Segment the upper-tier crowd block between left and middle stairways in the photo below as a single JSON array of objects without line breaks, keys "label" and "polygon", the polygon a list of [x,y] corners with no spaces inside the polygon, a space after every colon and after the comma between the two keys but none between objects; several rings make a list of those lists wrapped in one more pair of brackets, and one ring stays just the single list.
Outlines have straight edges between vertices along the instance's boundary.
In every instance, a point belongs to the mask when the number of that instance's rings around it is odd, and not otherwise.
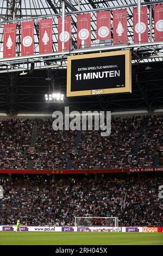
[{"label": "upper-tier crowd block between left and middle stairways", "polygon": [[68,159],[66,151],[74,144],[76,131],[54,131],[52,119],[37,120],[35,149],[40,152],[34,159],[34,169],[65,169]]}]

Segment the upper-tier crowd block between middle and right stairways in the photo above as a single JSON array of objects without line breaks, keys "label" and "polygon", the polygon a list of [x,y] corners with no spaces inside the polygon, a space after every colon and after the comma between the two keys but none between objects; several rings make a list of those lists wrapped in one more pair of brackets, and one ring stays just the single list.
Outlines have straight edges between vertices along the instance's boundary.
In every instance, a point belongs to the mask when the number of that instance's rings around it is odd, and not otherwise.
[{"label": "upper-tier crowd block between middle and right stairways", "polygon": [[76,157],[74,169],[131,167],[133,148],[140,136],[145,117],[111,118],[111,135],[102,137],[101,131],[83,131],[79,142],[81,157]]}]

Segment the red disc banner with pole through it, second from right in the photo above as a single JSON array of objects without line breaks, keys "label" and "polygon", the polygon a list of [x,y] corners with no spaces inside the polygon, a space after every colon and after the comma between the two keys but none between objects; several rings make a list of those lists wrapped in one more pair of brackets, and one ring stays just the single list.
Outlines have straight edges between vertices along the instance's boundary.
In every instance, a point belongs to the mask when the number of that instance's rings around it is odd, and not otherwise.
[{"label": "red disc banner with pole through it, second from right", "polygon": [[[140,33],[141,42],[148,42],[148,16],[147,6],[141,7],[140,11]],[[139,43],[138,9],[133,8],[134,42]]]}]

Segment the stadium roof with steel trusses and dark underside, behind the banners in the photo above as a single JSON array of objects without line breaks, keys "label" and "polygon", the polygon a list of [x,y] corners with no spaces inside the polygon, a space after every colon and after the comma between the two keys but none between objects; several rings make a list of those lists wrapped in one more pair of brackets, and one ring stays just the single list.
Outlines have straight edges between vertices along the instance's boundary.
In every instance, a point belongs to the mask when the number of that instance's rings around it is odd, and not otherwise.
[{"label": "stadium roof with steel trusses and dark underside, behind the banners", "polygon": [[[62,0],[1,0],[0,1],[0,110],[54,111],[65,105],[82,110],[154,109],[163,106],[162,70],[163,42],[154,42],[152,5],[163,0],[141,0],[148,7],[148,35],[146,44],[133,44],[133,7],[137,0],[65,0],[65,14],[72,15],[72,48],[58,52],[58,17],[62,13]],[[128,45],[93,47],[96,42],[96,11],[128,9]],[[91,48],[77,50],[77,14],[91,12]],[[112,13],[111,13],[112,15]],[[53,19],[53,53],[39,54],[39,20]],[[112,16],[111,16],[112,17]],[[21,21],[34,20],[34,55],[21,56]],[[3,25],[15,22],[16,57],[3,59]],[[112,23],[111,23],[112,27]],[[66,98],[64,103],[46,103],[45,94],[60,90],[66,94],[66,65],[69,54],[132,51],[132,94],[112,94]],[[27,72],[27,74],[26,74]],[[26,75],[24,75],[26,74]]]}]

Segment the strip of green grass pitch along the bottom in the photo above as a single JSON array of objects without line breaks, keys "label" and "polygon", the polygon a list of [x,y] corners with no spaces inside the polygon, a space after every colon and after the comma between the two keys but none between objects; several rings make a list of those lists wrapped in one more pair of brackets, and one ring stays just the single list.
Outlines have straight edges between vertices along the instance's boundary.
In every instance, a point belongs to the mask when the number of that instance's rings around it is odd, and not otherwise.
[{"label": "strip of green grass pitch along the bottom", "polygon": [[163,233],[0,231],[0,245],[163,245]]}]

